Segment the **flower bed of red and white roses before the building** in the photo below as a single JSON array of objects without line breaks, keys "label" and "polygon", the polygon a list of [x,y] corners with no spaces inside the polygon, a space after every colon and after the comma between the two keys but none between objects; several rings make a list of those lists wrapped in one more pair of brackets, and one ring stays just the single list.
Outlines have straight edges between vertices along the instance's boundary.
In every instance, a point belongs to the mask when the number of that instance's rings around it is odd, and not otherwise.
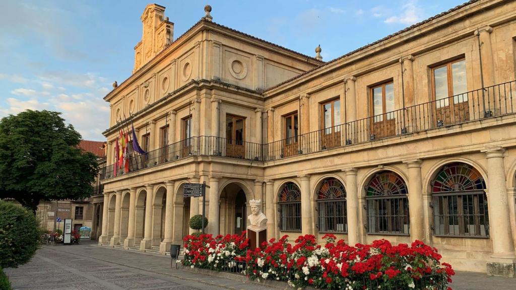
[{"label": "flower bed of red and white roses before the building", "polygon": [[183,265],[218,271],[239,272],[251,279],[286,281],[295,288],[327,289],[449,289],[451,266],[441,263],[437,249],[416,240],[391,245],[375,240],[372,245],[354,247],[332,234],[317,245],[313,235],[299,236],[295,244],[288,236],[271,239],[250,250],[242,235],[213,238],[205,234],[184,238]]}]

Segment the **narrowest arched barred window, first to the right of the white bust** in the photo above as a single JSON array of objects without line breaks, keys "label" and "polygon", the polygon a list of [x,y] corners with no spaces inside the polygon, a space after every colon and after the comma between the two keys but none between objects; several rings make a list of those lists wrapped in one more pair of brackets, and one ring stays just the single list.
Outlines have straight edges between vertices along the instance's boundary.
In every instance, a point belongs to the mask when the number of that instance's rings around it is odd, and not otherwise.
[{"label": "narrowest arched barred window, first to the right of the white bust", "polygon": [[301,190],[293,182],[283,184],[279,196],[280,230],[301,231]]}]

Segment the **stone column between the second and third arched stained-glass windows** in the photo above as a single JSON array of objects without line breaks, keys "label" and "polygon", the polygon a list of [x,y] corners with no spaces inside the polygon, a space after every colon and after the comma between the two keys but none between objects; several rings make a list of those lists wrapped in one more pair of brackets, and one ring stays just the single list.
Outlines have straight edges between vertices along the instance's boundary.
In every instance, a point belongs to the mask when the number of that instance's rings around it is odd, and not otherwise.
[{"label": "stone column between the second and third arched stained-glass windows", "polygon": [[348,212],[348,240],[351,246],[360,243],[358,219],[357,169],[344,170],[346,173],[346,207]]}]

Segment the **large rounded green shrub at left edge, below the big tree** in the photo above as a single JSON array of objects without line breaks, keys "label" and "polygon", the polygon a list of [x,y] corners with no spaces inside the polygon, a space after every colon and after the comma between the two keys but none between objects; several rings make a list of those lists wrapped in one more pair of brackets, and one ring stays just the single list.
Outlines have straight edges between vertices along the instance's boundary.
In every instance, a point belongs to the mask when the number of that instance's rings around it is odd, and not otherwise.
[{"label": "large rounded green shrub at left edge, below the big tree", "polygon": [[0,200],[0,268],[29,262],[40,245],[41,233],[33,212]]}]

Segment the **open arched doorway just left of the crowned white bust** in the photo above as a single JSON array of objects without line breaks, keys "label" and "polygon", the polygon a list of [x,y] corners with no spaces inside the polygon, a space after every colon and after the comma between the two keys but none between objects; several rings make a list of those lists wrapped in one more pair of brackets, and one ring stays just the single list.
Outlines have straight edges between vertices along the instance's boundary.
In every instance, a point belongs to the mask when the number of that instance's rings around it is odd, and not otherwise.
[{"label": "open arched doorway just left of the crowned white bust", "polygon": [[233,182],[222,189],[218,220],[221,234],[241,234],[247,229],[247,215],[250,213],[248,202],[251,198],[243,187]]}]

